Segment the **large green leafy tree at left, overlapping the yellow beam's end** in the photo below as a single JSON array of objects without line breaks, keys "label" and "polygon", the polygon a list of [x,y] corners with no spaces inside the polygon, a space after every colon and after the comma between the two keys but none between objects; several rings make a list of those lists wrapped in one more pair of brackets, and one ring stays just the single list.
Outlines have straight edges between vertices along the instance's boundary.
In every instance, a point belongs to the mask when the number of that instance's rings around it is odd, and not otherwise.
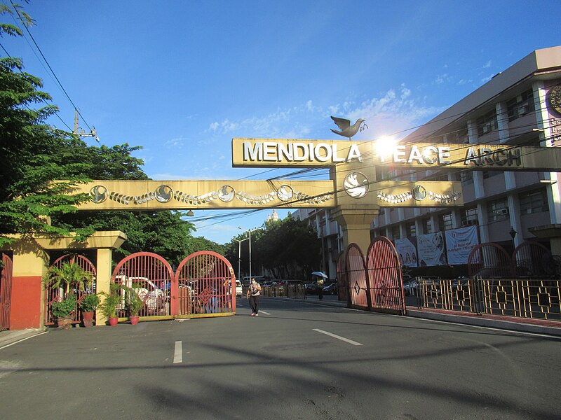
[{"label": "large green leafy tree at left, overlapping the yellow beam's end", "polygon": [[[25,25],[33,23],[13,3],[0,5],[0,14],[6,13],[17,13]],[[3,34],[22,33],[0,23]],[[224,252],[212,241],[192,237],[194,226],[177,211],[76,212],[76,206],[89,198],[72,193],[79,183],[148,179],[142,171],[144,162],[131,155],[140,147],[88,147],[75,135],[47,125],[58,108],[48,104],[51,97],[41,87],[41,79],[25,73],[20,59],[0,59],[0,246],[11,241],[6,235],[11,233],[75,235],[81,241],[95,230],[122,230],[128,240],[116,258],[150,250],[177,263],[199,247]]]}]

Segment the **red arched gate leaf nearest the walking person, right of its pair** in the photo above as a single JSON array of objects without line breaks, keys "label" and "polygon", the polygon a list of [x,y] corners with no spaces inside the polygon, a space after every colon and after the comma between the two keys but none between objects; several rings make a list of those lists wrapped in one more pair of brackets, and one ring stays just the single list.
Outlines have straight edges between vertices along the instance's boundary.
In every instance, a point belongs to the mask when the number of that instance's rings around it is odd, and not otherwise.
[{"label": "red arched gate leaf nearest the walking person, right of its pair", "polygon": [[234,269],[219,253],[192,253],[177,267],[175,279],[180,315],[236,312]]}]

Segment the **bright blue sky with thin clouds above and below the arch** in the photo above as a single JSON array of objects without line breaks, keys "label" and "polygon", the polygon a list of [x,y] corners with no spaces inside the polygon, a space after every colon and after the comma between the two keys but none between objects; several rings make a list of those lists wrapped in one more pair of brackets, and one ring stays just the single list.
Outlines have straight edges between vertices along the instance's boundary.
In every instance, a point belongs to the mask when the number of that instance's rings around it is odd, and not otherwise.
[{"label": "bright blue sky with thin clouds above and below the arch", "polygon": [[[231,138],[337,139],[332,115],[367,120],[356,140],[407,134],[533,50],[561,44],[559,0],[32,0],[25,11],[102,144],[142,146],[144,172],[159,180],[279,176],[287,171],[233,169]],[[43,78],[73,127],[74,107],[29,36],[0,43]],[[196,211],[195,235],[224,243],[267,214]]]}]

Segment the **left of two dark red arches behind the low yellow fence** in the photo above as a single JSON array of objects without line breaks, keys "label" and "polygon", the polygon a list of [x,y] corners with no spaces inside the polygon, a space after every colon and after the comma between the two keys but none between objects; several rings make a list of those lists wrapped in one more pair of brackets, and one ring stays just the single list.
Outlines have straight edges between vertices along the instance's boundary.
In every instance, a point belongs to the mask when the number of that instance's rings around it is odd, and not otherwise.
[{"label": "left of two dark red arches behind the low yellow fence", "polygon": [[472,278],[481,276],[483,279],[511,276],[511,257],[498,244],[479,244],[469,253],[468,274]]}]

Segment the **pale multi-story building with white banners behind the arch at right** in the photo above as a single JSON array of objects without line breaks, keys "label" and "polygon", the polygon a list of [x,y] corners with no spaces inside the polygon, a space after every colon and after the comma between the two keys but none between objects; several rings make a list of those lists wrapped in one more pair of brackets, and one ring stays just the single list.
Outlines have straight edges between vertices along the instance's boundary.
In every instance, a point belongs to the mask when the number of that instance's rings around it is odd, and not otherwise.
[{"label": "pale multi-story building with white banners behind the arch at right", "polygon": [[[400,144],[561,145],[561,46],[536,50],[440,113]],[[464,207],[381,209],[372,236],[414,239],[417,235],[477,225],[480,242],[507,250],[532,239],[561,254],[561,177],[557,172],[416,171],[377,167],[377,180],[461,181]],[[339,227],[329,211],[297,211],[316,223],[334,276],[332,255],[340,251]],[[514,236],[514,237],[513,237]],[[414,241],[413,241],[414,243]],[[334,245],[337,245],[337,251]],[[333,271],[332,271],[333,270]]]}]

